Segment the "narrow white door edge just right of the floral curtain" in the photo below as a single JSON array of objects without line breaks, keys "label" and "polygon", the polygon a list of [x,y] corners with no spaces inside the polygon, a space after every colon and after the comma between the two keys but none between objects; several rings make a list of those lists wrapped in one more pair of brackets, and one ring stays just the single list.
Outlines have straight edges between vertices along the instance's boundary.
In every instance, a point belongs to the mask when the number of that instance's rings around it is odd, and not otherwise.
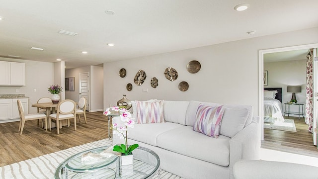
[{"label": "narrow white door edge just right of the floral curtain", "polygon": [[317,48],[313,51],[313,141],[317,146],[317,118],[318,118],[318,64]]}]

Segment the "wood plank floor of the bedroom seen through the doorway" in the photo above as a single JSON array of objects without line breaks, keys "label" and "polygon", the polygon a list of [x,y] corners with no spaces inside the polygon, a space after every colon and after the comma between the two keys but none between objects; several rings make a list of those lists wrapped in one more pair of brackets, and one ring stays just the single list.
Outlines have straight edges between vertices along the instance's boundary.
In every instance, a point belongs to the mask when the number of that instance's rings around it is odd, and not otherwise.
[{"label": "wood plank floor of the bedroom seen through the doorway", "polygon": [[264,129],[264,140],[261,147],[294,154],[318,157],[317,146],[313,145],[313,134],[308,132],[308,125],[304,118],[287,117],[294,119],[297,132]]}]

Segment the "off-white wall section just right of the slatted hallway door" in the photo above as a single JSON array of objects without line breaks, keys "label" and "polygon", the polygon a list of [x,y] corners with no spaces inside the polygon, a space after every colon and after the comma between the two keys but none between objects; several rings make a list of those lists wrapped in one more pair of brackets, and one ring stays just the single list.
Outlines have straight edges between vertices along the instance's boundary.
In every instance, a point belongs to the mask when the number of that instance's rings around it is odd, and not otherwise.
[{"label": "off-white wall section just right of the slatted hallway door", "polygon": [[103,76],[103,67],[90,66],[90,112],[103,110]]}]

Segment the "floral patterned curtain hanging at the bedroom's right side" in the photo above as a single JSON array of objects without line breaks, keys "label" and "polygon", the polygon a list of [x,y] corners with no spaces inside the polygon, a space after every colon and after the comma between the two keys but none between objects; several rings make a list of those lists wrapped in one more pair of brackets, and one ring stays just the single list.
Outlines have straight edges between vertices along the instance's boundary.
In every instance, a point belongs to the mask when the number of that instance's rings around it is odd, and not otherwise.
[{"label": "floral patterned curtain hanging at the bedroom's right side", "polygon": [[307,55],[307,71],[306,71],[306,124],[309,125],[308,130],[313,132],[313,50]]}]

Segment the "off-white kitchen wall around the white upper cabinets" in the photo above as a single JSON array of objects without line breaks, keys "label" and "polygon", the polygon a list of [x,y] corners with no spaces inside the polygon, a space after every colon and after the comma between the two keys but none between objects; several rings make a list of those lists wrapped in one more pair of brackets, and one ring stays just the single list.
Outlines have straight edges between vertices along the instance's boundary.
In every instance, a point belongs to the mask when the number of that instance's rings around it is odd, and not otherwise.
[{"label": "off-white kitchen wall around the white upper cabinets", "polygon": [[[0,86],[0,94],[25,94],[25,96],[29,97],[29,113],[36,113],[36,107],[31,107],[31,104],[36,103],[41,97],[52,96],[52,94],[48,92],[48,88],[54,84],[54,64],[1,57],[0,61],[25,63],[25,86]],[[15,92],[15,89],[18,89],[19,92]],[[34,89],[36,91],[34,91]]]}]

